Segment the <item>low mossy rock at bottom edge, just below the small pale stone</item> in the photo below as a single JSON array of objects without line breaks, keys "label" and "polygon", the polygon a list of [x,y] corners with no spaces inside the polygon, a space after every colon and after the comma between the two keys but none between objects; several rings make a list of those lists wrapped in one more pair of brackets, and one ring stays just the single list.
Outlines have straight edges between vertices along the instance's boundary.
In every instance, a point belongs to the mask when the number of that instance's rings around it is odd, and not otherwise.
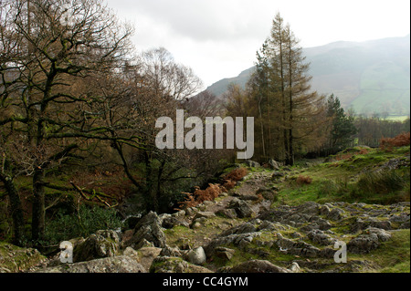
[{"label": "low mossy rock at bottom edge, just below the small pale stone", "polygon": [[180,257],[159,256],[153,261],[150,273],[213,273],[200,265],[193,265]]}]

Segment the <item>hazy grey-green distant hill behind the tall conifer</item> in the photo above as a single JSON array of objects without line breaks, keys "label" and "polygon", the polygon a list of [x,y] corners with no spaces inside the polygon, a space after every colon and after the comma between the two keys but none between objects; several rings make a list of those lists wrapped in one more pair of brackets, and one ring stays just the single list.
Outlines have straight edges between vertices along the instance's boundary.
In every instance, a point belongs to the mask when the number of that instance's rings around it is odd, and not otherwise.
[{"label": "hazy grey-green distant hill behind the tall conifer", "polygon": [[[311,86],[334,93],[345,109],[386,115],[410,114],[410,36],[365,42],[334,42],[303,49],[311,63]],[[217,81],[207,89],[221,96],[230,83],[244,87],[253,68],[236,78]]]}]

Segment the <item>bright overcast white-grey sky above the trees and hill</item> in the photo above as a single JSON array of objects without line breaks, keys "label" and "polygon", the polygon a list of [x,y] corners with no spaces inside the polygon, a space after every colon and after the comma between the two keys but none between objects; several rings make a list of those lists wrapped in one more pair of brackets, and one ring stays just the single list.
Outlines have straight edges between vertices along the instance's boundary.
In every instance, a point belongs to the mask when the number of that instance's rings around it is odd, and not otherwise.
[{"label": "bright overcast white-grey sky above the trees and hill", "polygon": [[406,36],[409,0],[106,0],[138,51],[165,47],[204,87],[254,65],[277,12],[301,47]]}]

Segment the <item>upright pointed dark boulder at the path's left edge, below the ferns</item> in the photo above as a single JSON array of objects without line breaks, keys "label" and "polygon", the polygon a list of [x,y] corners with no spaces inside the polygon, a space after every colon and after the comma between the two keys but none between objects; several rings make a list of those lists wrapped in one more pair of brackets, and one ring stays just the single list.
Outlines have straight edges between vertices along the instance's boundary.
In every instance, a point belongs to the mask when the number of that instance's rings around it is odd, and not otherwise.
[{"label": "upright pointed dark boulder at the path's left edge, below the ferns", "polygon": [[150,212],[143,216],[134,228],[132,239],[124,246],[139,249],[143,246],[144,241],[153,243],[155,247],[163,248],[165,246],[165,235],[157,213]]}]

